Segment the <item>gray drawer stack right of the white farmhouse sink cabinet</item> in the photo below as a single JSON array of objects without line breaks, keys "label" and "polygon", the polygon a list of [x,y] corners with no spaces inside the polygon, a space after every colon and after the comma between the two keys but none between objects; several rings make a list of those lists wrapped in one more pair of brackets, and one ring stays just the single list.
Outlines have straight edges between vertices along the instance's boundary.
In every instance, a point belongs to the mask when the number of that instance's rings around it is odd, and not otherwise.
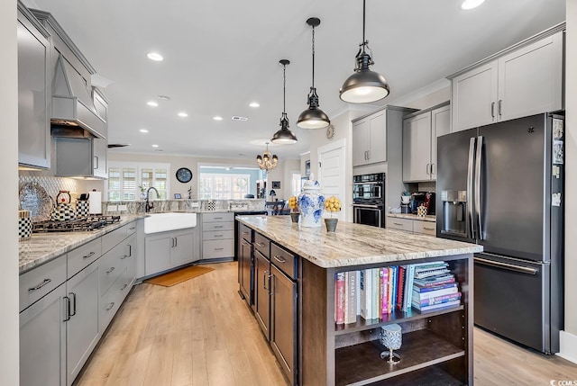
[{"label": "gray drawer stack right of the white farmhouse sink cabinet", "polygon": [[202,258],[234,257],[234,213],[202,214]]}]

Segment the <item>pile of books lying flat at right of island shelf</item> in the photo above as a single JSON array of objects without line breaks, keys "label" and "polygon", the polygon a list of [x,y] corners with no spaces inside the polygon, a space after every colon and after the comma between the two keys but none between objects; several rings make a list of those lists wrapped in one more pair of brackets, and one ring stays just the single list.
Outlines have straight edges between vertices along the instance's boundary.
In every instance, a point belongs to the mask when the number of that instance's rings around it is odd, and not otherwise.
[{"label": "pile of books lying flat at right of island shelf", "polygon": [[443,261],[415,265],[411,305],[423,312],[461,304],[459,284]]}]

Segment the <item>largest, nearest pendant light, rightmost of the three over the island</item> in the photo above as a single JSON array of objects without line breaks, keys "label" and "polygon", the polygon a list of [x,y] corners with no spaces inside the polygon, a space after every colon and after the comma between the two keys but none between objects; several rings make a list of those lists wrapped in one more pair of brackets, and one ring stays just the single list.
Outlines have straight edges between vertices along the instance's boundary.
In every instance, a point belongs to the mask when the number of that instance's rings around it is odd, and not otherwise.
[{"label": "largest, nearest pendant light, rightmost of the three over the island", "polygon": [[369,66],[372,66],[374,62],[371,59],[371,55],[369,55],[365,50],[368,49],[371,51],[369,48],[369,40],[364,39],[366,17],[365,5],[366,0],[362,0],[362,43],[359,44],[359,52],[357,52],[355,58],[357,63],[354,68],[354,74],[344,81],[341,90],[339,90],[341,99],[344,102],[375,102],[389,95],[390,92],[387,79],[379,73],[369,69]]}]

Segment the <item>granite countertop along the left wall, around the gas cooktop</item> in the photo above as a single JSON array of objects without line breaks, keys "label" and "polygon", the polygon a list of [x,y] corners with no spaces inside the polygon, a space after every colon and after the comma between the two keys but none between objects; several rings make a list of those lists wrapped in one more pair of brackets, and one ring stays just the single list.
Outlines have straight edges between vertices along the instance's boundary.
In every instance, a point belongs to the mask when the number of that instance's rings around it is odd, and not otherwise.
[{"label": "granite countertop along the left wall, around the gas cooktop", "polygon": [[121,216],[120,222],[110,224],[103,229],[74,232],[39,232],[32,233],[32,238],[18,243],[20,274],[30,271],[38,265],[49,262],[55,257],[86,244],[88,241],[104,236],[134,220],[146,217],[145,214],[127,214]]}]

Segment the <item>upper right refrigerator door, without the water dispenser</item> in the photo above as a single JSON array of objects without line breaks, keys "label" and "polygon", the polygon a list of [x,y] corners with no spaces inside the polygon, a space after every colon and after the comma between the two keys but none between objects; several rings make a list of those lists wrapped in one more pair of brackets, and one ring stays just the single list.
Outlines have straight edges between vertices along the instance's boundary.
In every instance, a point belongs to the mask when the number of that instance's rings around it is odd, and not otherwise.
[{"label": "upper right refrigerator door, without the water dispenser", "polygon": [[546,114],[539,114],[479,128],[481,211],[476,220],[481,220],[478,242],[485,252],[548,259],[546,122]]}]

